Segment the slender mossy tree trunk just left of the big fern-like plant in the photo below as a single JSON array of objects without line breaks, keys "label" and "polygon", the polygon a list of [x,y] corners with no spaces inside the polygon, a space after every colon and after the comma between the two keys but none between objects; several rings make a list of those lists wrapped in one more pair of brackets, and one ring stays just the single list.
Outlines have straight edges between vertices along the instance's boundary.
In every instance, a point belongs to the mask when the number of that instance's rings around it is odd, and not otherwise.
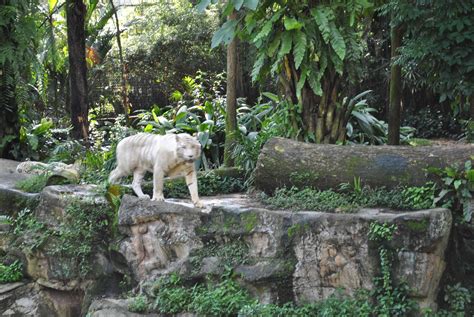
[{"label": "slender mossy tree trunk just left of the big fern-like plant", "polygon": [[[229,20],[237,17],[234,11]],[[237,133],[237,38],[227,46],[227,103],[225,116],[224,165],[234,165],[232,150]]]}]

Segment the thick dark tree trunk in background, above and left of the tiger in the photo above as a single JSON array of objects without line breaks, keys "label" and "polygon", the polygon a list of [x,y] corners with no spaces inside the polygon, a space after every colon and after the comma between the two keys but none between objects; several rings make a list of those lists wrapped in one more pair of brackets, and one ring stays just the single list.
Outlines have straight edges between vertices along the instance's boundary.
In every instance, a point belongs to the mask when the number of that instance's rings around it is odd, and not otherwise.
[{"label": "thick dark tree trunk in background, above and left of the tiger", "polygon": [[72,135],[87,142],[89,136],[86,65],[86,5],[82,0],[67,0],[67,44],[69,51],[69,89]]}]

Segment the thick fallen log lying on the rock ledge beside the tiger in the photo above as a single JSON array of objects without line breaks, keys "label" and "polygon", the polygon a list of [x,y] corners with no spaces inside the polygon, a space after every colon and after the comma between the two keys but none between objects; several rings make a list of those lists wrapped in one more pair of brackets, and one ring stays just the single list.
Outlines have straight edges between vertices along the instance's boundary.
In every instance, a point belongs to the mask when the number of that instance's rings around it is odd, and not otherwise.
[{"label": "thick fallen log lying on the rock ledge beside the tiger", "polygon": [[434,179],[427,167],[464,166],[473,156],[473,144],[328,145],[272,138],[258,158],[255,187],[267,193],[291,186],[324,190],[353,184],[355,178],[370,187],[422,186]]}]

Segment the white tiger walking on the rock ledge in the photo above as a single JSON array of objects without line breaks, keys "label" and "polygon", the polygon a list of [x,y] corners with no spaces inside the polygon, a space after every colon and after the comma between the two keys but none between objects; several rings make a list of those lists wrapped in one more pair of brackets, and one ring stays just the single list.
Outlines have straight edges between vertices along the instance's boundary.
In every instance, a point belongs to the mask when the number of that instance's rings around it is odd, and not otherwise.
[{"label": "white tiger walking on the rock ledge", "polygon": [[153,173],[153,198],[162,201],[163,178],[184,176],[191,200],[202,207],[199,200],[197,175],[194,166],[201,155],[201,145],[189,134],[155,135],[139,133],[129,136],[117,145],[117,167],[110,173],[109,182],[133,173],[132,188],[139,198],[143,194],[141,182],[146,172]]}]

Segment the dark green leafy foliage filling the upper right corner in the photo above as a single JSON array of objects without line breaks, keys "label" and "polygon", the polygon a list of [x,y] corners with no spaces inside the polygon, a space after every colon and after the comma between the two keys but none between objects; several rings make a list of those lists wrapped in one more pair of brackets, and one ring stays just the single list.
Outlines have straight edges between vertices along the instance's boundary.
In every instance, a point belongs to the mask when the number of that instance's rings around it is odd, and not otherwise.
[{"label": "dark green leafy foliage filling the upper right corner", "polygon": [[472,1],[390,1],[384,7],[406,36],[397,63],[405,77],[460,107],[474,94]]}]

